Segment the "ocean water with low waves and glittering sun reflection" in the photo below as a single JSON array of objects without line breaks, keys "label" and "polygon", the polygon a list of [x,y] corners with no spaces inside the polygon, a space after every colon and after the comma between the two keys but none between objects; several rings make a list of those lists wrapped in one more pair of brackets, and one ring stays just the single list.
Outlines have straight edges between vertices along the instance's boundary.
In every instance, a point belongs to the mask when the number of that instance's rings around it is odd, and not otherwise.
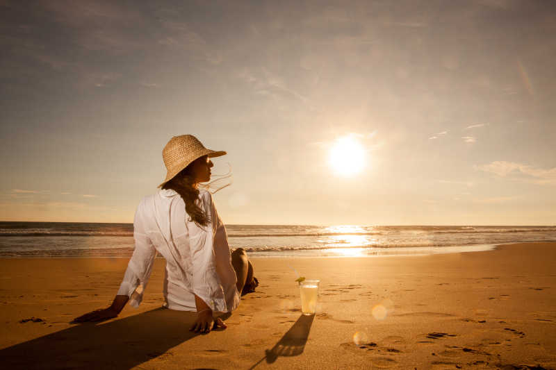
[{"label": "ocean water with low waves and glittering sun reflection", "polygon": [[[227,225],[254,257],[377,257],[488,251],[556,241],[556,226]],[[133,224],[0,222],[0,258],[129,258]]]}]

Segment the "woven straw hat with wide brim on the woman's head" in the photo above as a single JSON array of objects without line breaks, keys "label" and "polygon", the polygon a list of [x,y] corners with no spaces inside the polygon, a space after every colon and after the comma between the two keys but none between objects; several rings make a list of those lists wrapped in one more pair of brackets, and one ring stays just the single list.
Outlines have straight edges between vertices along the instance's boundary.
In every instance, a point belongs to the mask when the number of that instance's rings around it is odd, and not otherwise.
[{"label": "woven straw hat with wide brim on the woman's head", "polygon": [[164,146],[162,151],[162,158],[167,173],[164,182],[158,185],[158,187],[162,187],[162,185],[172,180],[174,176],[179,174],[179,171],[188,167],[188,165],[197,158],[201,158],[203,155],[208,155],[211,158],[220,157],[220,155],[224,154],[226,154],[225,151],[211,151],[211,149],[206,149],[203,144],[197,140],[197,137],[193,135],[174,136],[166,146]]}]

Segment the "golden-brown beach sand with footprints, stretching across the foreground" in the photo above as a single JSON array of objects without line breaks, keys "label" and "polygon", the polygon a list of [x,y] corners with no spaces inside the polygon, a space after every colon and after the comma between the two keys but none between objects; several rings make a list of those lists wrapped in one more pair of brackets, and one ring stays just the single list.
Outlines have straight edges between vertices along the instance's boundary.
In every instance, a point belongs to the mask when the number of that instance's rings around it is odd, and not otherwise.
[{"label": "golden-brown beach sand with footprints, stretching across the foreground", "polygon": [[[243,298],[226,330],[195,335],[188,331],[193,313],[161,309],[164,260],[156,260],[140,308],[83,325],[70,321],[111,302],[127,260],[0,260],[0,363],[3,369],[556,369],[556,243],[253,262],[258,291]],[[300,314],[291,267],[321,280],[315,316]]]}]

